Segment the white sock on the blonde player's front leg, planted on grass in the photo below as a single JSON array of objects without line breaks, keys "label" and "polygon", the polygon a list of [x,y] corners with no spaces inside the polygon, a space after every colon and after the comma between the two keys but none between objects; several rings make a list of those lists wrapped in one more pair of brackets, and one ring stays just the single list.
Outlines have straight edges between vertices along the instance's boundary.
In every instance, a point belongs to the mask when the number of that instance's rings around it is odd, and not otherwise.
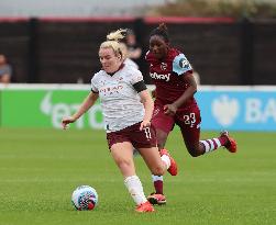
[{"label": "white sock on the blonde player's front leg, planted on grass", "polygon": [[124,184],[136,205],[145,203],[147,201],[144,194],[143,185],[137,176],[125,178]]}]

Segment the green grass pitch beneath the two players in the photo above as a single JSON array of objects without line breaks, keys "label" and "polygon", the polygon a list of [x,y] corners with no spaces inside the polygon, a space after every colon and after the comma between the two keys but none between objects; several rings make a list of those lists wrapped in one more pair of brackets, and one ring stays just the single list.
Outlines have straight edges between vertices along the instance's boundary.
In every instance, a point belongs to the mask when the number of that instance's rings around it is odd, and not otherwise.
[{"label": "green grass pitch beneath the two players", "polygon": [[[276,224],[276,133],[234,132],[239,153],[219,149],[192,158],[180,133],[167,147],[179,175],[165,176],[166,206],[137,214],[107,147],[103,131],[0,130],[0,225],[273,225]],[[201,138],[217,133],[203,132]],[[136,172],[146,194],[151,175]],[[95,211],[78,212],[74,189],[92,185]]]}]

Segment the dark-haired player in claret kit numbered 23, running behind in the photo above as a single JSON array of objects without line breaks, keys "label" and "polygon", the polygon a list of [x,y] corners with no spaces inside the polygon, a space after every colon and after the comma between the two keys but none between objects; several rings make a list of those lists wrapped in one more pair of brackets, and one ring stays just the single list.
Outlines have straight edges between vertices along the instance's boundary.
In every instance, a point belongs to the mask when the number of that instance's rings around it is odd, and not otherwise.
[{"label": "dark-haired player in claret kit numbered 23, running behind", "polygon": [[[230,153],[236,151],[236,143],[227,131],[219,137],[199,140],[200,110],[194,98],[197,83],[192,68],[186,56],[169,44],[169,35],[164,23],[150,34],[150,50],[145,56],[154,91],[152,124],[156,130],[161,154],[166,153],[165,144],[175,124],[179,126],[185,145],[192,157],[201,156],[223,146]],[[163,177],[152,176],[155,192],[147,196],[152,204],[165,204]]]}]

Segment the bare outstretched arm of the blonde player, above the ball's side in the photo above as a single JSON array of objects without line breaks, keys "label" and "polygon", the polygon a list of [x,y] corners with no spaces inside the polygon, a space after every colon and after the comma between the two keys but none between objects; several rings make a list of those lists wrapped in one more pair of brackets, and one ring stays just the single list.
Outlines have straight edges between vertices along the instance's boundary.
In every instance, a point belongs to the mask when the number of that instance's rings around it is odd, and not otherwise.
[{"label": "bare outstretched arm of the blonde player, above the ball's side", "polygon": [[75,121],[77,121],[84,113],[86,113],[97,101],[99,94],[95,93],[95,92],[90,92],[88,94],[88,97],[84,100],[84,102],[81,103],[80,108],[78,109],[78,111],[71,115],[71,116],[66,116],[62,120],[62,126],[63,128],[67,128],[67,125],[69,123],[74,123]]}]

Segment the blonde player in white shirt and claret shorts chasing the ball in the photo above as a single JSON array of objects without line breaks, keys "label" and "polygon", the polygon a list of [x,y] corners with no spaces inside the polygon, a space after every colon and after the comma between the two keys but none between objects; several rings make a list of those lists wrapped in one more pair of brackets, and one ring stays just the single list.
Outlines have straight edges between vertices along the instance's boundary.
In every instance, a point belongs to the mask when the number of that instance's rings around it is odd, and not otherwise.
[{"label": "blonde player in white shirt and claret shorts chasing the ball", "polygon": [[139,149],[152,173],[161,176],[166,170],[177,173],[177,165],[169,154],[159,155],[155,131],[151,125],[153,100],[146,90],[140,70],[123,64],[120,44],[107,41],[100,45],[102,69],[91,79],[91,92],[78,111],[63,119],[63,127],[77,121],[99,98],[106,123],[111,155],[124,177],[124,184],[136,203],[136,212],[153,212],[142,183],[136,176],[133,147]]}]

